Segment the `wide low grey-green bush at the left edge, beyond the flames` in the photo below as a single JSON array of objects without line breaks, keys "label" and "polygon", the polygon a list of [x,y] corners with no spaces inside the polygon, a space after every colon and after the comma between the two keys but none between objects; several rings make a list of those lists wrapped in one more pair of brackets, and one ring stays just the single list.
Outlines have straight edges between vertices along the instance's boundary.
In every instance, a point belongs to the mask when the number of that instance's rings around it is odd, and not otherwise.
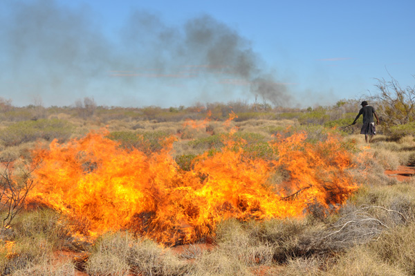
[{"label": "wide low grey-green bush at the left edge, beyond the flames", "polygon": [[73,125],[65,120],[41,119],[17,122],[0,131],[0,141],[6,147],[20,145],[23,142],[57,139],[64,142],[71,137]]}]

